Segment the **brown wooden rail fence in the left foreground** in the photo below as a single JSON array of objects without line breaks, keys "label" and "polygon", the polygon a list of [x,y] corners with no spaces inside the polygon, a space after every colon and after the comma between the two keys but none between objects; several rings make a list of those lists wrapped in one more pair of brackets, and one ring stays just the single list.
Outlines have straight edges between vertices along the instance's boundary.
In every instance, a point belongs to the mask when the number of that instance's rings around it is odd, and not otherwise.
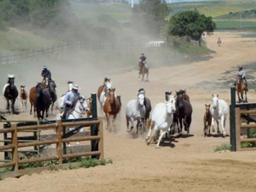
[{"label": "brown wooden rail fence in the left foreground", "polygon": [[[86,137],[74,137],[74,138],[63,138],[63,127],[74,127],[74,126],[97,126],[98,135],[86,136]],[[56,131],[56,138],[46,141],[34,141],[26,143],[18,143],[18,132],[27,130],[38,130],[38,129],[54,129]],[[93,121],[76,121],[76,122],[62,122],[61,120],[56,123],[49,123],[44,125],[31,125],[18,127],[17,123],[12,123],[11,128],[0,129],[0,133],[11,133],[11,144],[6,146],[0,146],[0,151],[10,150],[12,151],[12,158],[10,162],[0,163],[0,168],[13,166],[13,171],[19,171],[19,165],[33,162],[42,161],[53,161],[57,160],[58,165],[63,164],[65,158],[83,157],[99,155],[99,159],[103,159],[103,122],[102,118],[98,118]],[[63,153],[63,143],[72,141],[98,141],[98,151],[79,151],[77,153],[65,154]],[[18,158],[18,149],[21,147],[31,147],[39,145],[51,145],[56,144],[56,155],[51,157],[39,157],[32,159]],[[16,172],[18,174],[18,172]],[[16,174],[16,175],[17,175]]]}]

